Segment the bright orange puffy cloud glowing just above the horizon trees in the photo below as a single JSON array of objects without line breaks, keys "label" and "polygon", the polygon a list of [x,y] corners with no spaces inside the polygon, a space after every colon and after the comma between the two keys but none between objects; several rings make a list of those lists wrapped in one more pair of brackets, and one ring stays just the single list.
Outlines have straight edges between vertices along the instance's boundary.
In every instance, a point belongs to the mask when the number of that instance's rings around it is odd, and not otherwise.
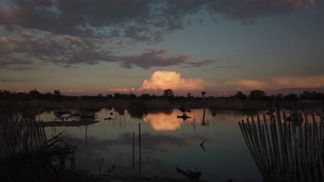
[{"label": "bright orange puffy cloud glowing just above the horizon trees", "polygon": [[178,72],[156,71],[139,90],[202,90],[208,83],[201,78],[183,79]]}]

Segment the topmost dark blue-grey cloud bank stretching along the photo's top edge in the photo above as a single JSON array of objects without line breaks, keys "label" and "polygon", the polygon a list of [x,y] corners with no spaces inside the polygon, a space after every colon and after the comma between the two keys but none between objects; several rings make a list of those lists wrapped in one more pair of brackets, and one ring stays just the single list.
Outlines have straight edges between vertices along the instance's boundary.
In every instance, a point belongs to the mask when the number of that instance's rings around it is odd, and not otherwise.
[{"label": "topmost dark blue-grey cloud bank stretching along the photo's top edge", "polygon": [[185,28],[188,15],[199,10],[253,23],[255,17],[289,14],[312,8],[316,3],[316,0],[12,0],[10,6],[0,7],[0,25],[7,30],[21,27],[80,37],[121,36],[159,42],[173,30]]}]

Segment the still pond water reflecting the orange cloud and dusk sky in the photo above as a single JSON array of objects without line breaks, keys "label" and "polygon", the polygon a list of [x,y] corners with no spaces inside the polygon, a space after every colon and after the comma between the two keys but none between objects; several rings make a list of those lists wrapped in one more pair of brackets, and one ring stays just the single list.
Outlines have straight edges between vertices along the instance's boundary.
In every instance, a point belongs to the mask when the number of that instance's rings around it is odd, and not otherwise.
[{"label": "still pond water reflecting the orange cloud and dusk sky", "polygon": [[[183,114],[179,110],[148,113],[141,119],[131,117],[127,111],[120,115],[114,109],[102,109],[96,114],[100,123],[46,128],[48,136],[64,130],[81,142],[77,156],[79,169],[98,172],[98,161],[104,160],[102,171],[115,163],[121,175],[131,174],[134,132],[135,172],[138,173],[138,123],[141,123],[142,174],[184,178],[177,173],[178,166],[193,171],[198,168],[201,179],[207,181],[262,181],[238,125],[238,121],[259,113],[206,109],[204,123],[203,109],[188,112],[192,118],[186,121],[177,119]],[[107,117],[114,119],[105,121]],[[45,112],[38,119],[53,121],[55,116],[53,112]],[[199,145],[204,140],[206,151]]]}]

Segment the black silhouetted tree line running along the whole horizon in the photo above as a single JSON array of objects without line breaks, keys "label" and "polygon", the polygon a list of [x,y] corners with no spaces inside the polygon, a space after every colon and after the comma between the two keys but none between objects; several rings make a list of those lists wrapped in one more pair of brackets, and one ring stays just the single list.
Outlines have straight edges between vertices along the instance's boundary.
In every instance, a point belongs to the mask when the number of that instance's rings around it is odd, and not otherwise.
[{"label": "black silhouetted tree line running along the whole horizon", "polygon": [[[54,90],[52,92],[46,92],[42,94],[38,90],[30,90],[28,93],[24,92],[9,92],[8,90],[0,90],[0,99],[22,99],[22,100],[33,100],[33,99],[66,99],[66,100],[73,100],[73,99],[201,99],[203,95],[206,94],[205,91],[201,92],[201,95],[194,96],[190,92],[186,96],[179,96],[174,95],[174,92],[171,89],[164,90],[162,95],[155,95],[155,94],[141,94],[136,95],[134,93],[126,94],[126,93],[118,93],[115,92],[114,94],[107,94],[103,96],[102,94],[98,94],[96,96],[88,96],[83,95],[80,97],[77,96],[64,96],[62,95],[61,90]],[[284,99],[284,100],[324,100],[324,92],[316,92],[316,91],[304,91],[303,93],[294,94],[289,93],[286,95],[283,94],[272,94],[267,95],[266,92],[263,90],[251,90],[249,94],[243,94],[242,92],[237,92],[231,96],[222,96],[222,97],[213,97],[208,96],[206,99],[264,99],[264,100],[271,100],[271,99]]]}]

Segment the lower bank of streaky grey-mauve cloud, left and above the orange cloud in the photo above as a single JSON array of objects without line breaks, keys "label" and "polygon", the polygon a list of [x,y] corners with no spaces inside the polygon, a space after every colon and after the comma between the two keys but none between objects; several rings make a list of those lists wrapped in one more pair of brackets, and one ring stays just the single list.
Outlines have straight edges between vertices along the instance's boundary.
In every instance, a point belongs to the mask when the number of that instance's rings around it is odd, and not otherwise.
[{"label": "lower bank of streaky grey-mauve cloud, left and above the orange cloud", "polygon": [[[67,35],[51,37],[47,34],[35,36],[28,32],[21,32],[20,36],[21,39],[1,38],[0,55],[3,58],[0,59],[0,65],[33,63],[13,59],[10,57],[12,54],[24,54],[32,60],[54,63],[65,68],[77,68],[80,64],[96,65],[100,61],[119,63],[123,68],[137,66],[145,69],[181,64],[201,66],[217,61],[216,59],[188,61],[188,54],[170,54],[163,48],[137,48],[141,50],[141,54],[114,55],[114,48],[107,48],[107,43],[116,42],[113,39],[105,41]],[[116,43],[116,46],[119,44]]]}]

